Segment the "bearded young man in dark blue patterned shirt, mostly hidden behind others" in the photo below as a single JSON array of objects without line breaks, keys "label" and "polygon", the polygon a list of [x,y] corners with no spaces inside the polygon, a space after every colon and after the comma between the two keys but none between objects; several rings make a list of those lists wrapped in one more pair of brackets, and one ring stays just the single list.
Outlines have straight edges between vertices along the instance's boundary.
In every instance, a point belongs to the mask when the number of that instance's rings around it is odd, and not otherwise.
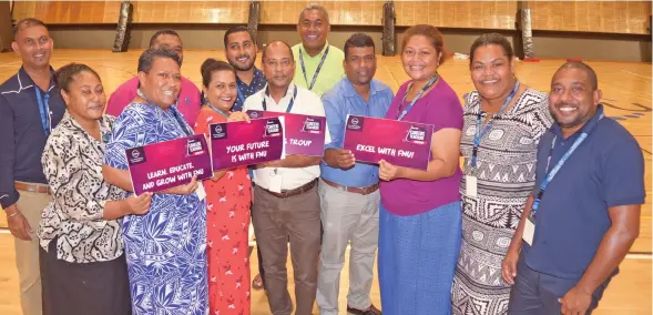
[{"label": "bearded young man in dark blue patterned shirt, mostly hidden behind others", "polygon": [[[236,84],[238,84],[238,98],[232,108],[234,112],[242,111],[245,100],[263,90],[267,84],[263,71],[254,65],[257,51],[256,39],[254,39],[252,31],[247,27],[233,27],[224,33],[224,53],[229,64],[236,69]],[[252,170],[249,170],[249,176],[253,177]],[[258,246],[256,252],[258,255],[258,275],[252,281],[252,287],[261,289],[263,288],[264,271]]]}]

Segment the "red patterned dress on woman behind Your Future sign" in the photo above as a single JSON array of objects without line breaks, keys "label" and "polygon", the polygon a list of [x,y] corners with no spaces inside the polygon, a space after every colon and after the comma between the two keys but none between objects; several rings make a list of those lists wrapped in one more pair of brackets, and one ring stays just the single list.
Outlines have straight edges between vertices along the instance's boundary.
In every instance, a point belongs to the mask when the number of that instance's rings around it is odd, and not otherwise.
[{"label": "red patterned dress on woman behind Your Future sign", "polygon": [[[226,118],[203,106],[195,132],[208,139],[211,123]],[[249,314],[249,205],[252,180],[247,167],[229,170],[206,187],[206,237],[208,257],[208,304],[211,314]]]}]

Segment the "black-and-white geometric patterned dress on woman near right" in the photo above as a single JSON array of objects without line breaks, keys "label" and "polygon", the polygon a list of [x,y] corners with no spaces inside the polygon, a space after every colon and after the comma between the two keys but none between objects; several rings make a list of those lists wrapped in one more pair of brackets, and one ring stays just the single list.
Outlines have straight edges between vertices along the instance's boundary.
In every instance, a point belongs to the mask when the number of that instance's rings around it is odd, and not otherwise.
[{"label": "black-and-white geometric patterned dress on woman near right", "polygon": [[[479,93],[465,96],[465,126],[460,151],[466,175],[471,172],[471,151]],[[484,113],[481,121],[484,126]],[[462,243],[452,286],[453,314],[504,314],[510,286],[501,278],[501,263],[528,195],[535,180],[535,154],[539,139],[550,128],[547,94],[527,89],[508,112],[494,118],[478,150],[477,196],[462,197]]]}]

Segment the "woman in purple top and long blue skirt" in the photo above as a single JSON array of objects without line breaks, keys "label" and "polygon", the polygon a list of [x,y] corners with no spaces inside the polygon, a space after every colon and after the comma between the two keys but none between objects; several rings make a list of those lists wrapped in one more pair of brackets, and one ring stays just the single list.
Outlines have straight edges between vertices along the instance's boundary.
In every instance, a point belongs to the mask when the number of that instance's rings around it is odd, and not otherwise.
[{"label": "woman in purple top and long blue skirt", "polygon": [[404,83],[387,119],[435,125],[426,171],[379,162],[379,283],[384,314],[450,314],[460,250],[458,190],[462,105],[438,74],[442,35],[431,26],[406,31]]}]

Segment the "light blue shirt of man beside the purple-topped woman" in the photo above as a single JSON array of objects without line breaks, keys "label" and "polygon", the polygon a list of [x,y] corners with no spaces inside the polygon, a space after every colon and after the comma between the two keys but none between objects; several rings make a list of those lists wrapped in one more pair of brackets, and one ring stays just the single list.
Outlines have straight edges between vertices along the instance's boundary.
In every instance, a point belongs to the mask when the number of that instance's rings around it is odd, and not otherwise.
[{"label": "light blue shirt of man beside the purple-topped woman", "polygon": [[[331,143],[325,145],[325,149],[343,148],[347,115],[385,118],[392,103],[392,90],[375,79],[370,82],[369,101],[366,103],[354,90],[347,77],[340,79],[333,89],[322,96],[331,135]],[[331,167],[323,161],[320,171],[323,179],[344,186],[365,187],[379,181],[378,165],[376,164],[356,163],[354,167],[343,171]]]}]

